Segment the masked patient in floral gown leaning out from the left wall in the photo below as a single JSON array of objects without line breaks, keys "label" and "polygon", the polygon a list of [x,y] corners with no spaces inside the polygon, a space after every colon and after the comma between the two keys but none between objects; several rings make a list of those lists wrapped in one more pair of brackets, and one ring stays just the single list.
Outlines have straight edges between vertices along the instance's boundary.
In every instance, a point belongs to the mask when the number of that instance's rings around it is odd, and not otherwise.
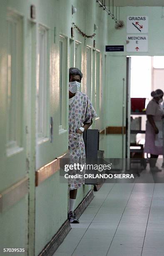
[{"label": "masked patient in floral gown leaning out from the left wall", "polygon": [[[70,159],[75,162],[85,158],[83,132],[92,125],[92,118],[96,112],[89,97],[78,91],[82,79],[82,72],[77,68],[70,68],[69,74],[69,149]],[[79,223],[74,212],[77,189],[84,184],[84,179],[68,179],[70,190],[70,207],[68,219],[70,223]]]}]

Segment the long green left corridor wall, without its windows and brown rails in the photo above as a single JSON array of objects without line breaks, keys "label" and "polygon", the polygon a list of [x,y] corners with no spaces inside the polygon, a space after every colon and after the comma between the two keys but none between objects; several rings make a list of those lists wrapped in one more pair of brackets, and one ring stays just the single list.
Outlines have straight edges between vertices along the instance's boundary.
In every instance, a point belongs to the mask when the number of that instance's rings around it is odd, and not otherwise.
[{"label": "long green left corridor wall, without its windows and brown rails", "polygon": [[[35,5],[36,19],[30,18],[30,5]],[[77,8],[77,13],[72,15],[72,4]],[[16,15],[22,18],[22,153],[6,156],[6,127],[7,127],[7,15]],[[106,105],[104,70],[104,45],[107,43],[108,28],[107,15],[104,15],[94,0],[7,0],[1,1],[0,9],[0,32],[4,36],[0,42],[0,104],[1,104],[1,125],[0,125],[0,161],[1,181],[0,193],[10,188],[24,177],[29,178],[28,195],[12,205],[6,211],[0,213],[0,223],[3,232],[0,234],[2,247],[26,248],[25,254],[37,255],[51,240],[60,226],[67,219],[68,191],[67,184],[60,183],[59,172],[35,187],[35,171],[48,164],[56,157],[61,156],[68,148],[67,131],[59,135],[60,120],[60,97],[59,97],[59,35],[65,36],[67,40],[67,71],[65,73],[66,84],[64,100],[66,102],[65,119],[68,118],[68,68],[69,62],[74,61],[74,54],[70,53],[70,38],[72,22],[76,23],[86,34],[96,32],[96,47],[93,49],[93,40],[84,40],[76,30],[72,43],[80,41],[82,49],[82,90],[86,90],[86,52],[87,46],[91,47],[91,83],[94,81],[94,62],[92,64],[93,50],[100,52],[100,74],[99,90],[100,105],[99,118],[94,120],[92,128],[104,129],[106,125]],[[94,31],[94,23],[98,29]],[[54,140],[41,143],[36,142],[36,84],[37,84],[37,47],[38,47],[38,26],[41,24],[48,30],[49,35],[49,109],[50,116],[54,118]],[[55,28],[55,36],[54,36]],[[73,49],[75,50],[75,49]],[[94,55],[94,54],[93,54]],[[16,84],[15,84],[16,86]],[[94,86],[92,87],[91,101],[94,103]],[[103,114],[102,114],[103,113]],[[66,125],[66,129],[67,129]],[[100,138],[100,149],[104,150],[104,136]],[[78,190],[76,207],[87,195],[91,185],[83,185]],[[14,217],[13,217],[14,216]],[[8,224],[6,224],[8,223]],[[7,225],[7,226],[6,226]],[[6,228],[7,227],[7,228]],[[5,239],[7,238],[7,239]],[[2,253],[1,253],[2,255]]]}]

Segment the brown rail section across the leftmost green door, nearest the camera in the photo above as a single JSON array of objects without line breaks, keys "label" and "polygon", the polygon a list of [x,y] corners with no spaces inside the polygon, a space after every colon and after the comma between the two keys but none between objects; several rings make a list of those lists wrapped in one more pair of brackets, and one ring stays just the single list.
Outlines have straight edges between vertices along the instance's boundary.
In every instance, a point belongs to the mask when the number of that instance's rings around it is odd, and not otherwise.
[{"label": "brown rail section across the leftmost green door, nearest the camera", "polygon": [[21,179],[0,194],[0,212],[20,201],[28,193],[28,177]]}]

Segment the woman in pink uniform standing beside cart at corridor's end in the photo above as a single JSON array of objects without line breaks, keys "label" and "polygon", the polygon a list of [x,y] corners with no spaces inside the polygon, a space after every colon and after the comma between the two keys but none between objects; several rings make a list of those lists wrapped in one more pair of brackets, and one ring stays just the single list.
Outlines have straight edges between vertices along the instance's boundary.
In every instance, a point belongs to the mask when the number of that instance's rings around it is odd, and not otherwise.
[{"label": "woman in pink uniform standing beside cart at corridor's end", "polygon": [[157,166],[157,158],[163,155],[163,146],[156,146],[157,134],[163,134],[164,110],[161,102],[163,101],[164,92],[160,89],[151,93],[153,97],[147,105],[147,124],[144,152],[150,154],[149,164],[152,171],[161,171]]}]

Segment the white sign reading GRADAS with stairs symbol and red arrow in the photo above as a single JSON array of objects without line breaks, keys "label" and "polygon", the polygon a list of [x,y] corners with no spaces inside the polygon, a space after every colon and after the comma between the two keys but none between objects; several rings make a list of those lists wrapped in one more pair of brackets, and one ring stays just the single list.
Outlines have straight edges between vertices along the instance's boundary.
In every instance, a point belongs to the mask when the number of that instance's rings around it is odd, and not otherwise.
[{"label": "white sign reading GRADAS with stairs symbol and red arrow", "polygon": [[148,33],[148,17],[127,16],[127,33]]}]

